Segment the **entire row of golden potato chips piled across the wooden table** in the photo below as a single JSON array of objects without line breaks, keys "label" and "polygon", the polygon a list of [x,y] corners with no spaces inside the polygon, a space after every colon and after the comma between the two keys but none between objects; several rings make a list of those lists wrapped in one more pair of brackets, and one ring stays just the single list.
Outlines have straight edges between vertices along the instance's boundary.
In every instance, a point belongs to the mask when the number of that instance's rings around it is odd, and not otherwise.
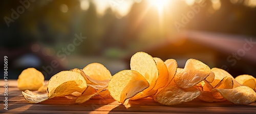
[{"label": "entire row of golden potato chips piled across the wooden table", "polygon": [[[34,68],[24,70],[18,77],[18,88],[30,103],[39,103],[54,97],[76,96],[83,103],[94,96],[114,98],[120,103],[126,99],[152,97],[164,105],[175,105],[198,98],[206,102],[228,100],[247,105],[256,101],[256,79],[251,75],[233,78],[219,68],[210,69],[204,63],[187,60],[184,69],[174,59],[163,62],[145,52],[131,58],[131,70],[115,75],[99,63],[83,69],[61,71],[44,83],[44,75]],[[44,94],[34,93],[37,90]]]}]

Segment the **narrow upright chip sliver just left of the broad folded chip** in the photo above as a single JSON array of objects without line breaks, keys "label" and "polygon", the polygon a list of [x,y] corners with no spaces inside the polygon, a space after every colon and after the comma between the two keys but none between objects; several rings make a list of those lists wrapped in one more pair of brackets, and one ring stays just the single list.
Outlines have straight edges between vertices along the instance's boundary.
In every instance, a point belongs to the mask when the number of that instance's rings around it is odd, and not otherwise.
[{"label": "narrow upright chip sliver just left of the broad folded chip", "polygon": [[166,65],[168,70],[168,80],[167,80],[167,83],[165,84],[165,87],[166,87],[173,80],[178,68],[178,64],[174,59],[168,59],[164,62],[164,64]]}]

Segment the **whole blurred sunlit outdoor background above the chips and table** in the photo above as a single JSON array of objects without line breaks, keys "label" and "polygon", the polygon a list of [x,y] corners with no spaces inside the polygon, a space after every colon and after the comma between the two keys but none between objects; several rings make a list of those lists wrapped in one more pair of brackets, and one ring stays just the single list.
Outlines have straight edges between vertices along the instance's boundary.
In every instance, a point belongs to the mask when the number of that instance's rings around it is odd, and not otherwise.
[{"label": "whole blurred sunlit outdoor background above the chips and table", "polygon": [[[234,77],[256,76],[256,0],[0,1],[1,61],[9,78],[28,67],[46,79],[94,62],[112,75],[145,51],[189,58]],[[2,72],[2,75],[4,73]]]}]

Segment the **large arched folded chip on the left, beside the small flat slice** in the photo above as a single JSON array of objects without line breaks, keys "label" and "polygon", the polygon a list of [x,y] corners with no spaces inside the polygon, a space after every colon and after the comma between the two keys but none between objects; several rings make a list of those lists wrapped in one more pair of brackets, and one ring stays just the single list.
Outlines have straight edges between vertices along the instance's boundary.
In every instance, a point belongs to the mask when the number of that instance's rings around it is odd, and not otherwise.
[{"label": "large arched folded chip on the left, beside the small flat slice", "polygon": [[86,80],[80,73],[61,71],[51,77],[47,85],[47,92],[49,98],[52,98],[69,95],[73,92],[82,93],[86,88]]}]

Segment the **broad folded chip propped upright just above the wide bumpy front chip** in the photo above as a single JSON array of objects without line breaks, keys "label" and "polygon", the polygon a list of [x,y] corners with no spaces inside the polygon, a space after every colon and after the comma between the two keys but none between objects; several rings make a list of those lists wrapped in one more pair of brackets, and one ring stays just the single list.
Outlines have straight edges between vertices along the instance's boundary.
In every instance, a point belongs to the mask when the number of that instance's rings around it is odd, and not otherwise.
[{"label": "broad folded chip propped upright just above the wide bumpy front chip", "polygon": [[185,67],[176,72],[174,81],[180,88],[190,88],[205,79],[210,73],[210,68],[204,63],[195,60],[187,60]]}]

